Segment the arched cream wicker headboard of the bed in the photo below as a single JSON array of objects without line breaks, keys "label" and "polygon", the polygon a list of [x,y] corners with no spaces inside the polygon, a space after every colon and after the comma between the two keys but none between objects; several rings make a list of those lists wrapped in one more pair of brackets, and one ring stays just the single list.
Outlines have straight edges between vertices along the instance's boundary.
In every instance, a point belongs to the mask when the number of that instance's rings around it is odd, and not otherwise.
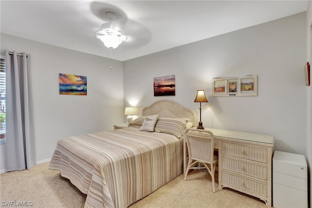
[{"label": "arched cream wicker headboard of the bed", "polygon": [[142,115],[154,114],[167,118],[190,118],[193,126],[197,125],[197,113],[173,100],[158,100],[142,110]]}]

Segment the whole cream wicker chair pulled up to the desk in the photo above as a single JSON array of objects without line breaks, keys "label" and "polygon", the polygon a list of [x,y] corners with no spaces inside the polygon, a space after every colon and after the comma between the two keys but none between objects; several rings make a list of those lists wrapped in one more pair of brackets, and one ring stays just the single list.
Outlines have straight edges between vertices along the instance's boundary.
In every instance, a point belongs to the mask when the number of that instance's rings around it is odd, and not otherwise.
[{"label": "whole cream wicker chair pulled up to the desk", "polygon": [[188,129],[185,132],[184,139],[186,140],[189,153],[189,162],[184,180],[186,180],[190,169],[207,169],[211,175],[215,193],[215,164],[218,161],[218,157],[214,155],[215,137],[213,132],[201,129]]}]

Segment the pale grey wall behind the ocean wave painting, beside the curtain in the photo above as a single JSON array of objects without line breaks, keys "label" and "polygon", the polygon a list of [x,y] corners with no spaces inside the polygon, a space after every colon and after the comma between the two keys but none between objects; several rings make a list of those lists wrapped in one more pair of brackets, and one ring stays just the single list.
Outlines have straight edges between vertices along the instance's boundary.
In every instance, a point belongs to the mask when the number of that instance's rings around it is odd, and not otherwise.
[{"label": "pale grey wall behind the ocean wave painting, beside the curtain", "polygon": [[[15,50],[31,56],[31,135],[36,140],[38,163],[49,161],[59,139],[112,130],[114,124],[123,122],[122,62],[113,61],[111,75],[108,58],[0,35],[1,51]],[[88,95],[59,95],[59,73],[87,76]],[[3,172],[4,144],[0,151]]]}]

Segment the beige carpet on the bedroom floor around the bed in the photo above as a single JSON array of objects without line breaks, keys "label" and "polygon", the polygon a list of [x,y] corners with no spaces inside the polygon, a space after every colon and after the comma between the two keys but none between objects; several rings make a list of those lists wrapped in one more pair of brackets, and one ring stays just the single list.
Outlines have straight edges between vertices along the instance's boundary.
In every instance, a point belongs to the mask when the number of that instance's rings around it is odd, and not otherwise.
[{"label": "beige carpet on the bedroom floor around the bed", "polygon": [[[31,170],[1,173],[0,206],[27,202],[32,208],[83,208],[86,195],[48,166],[43,163]],[[207,172],[192,171],[186,181],[179,175],[129,208],[266,208],[257,198],[231,189],[218,190],[217,183],[215,187],[213,193]]]}]

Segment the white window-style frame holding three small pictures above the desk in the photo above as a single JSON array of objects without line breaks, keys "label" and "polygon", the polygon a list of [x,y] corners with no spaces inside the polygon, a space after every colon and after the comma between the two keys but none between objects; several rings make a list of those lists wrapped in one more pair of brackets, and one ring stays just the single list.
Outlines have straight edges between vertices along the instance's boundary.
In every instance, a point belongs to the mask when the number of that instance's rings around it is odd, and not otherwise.
[{"label": "white window-style frame holding three small pictures above the desk", "polygon": [[213,96],[256,96],[257,76],[213,78]]}]

